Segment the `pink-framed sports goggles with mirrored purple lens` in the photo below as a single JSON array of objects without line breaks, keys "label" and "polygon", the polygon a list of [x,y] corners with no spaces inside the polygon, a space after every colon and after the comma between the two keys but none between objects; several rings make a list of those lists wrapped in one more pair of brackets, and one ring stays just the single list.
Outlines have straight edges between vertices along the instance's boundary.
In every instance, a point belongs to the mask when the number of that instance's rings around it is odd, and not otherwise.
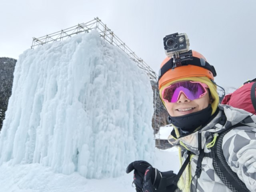
[{"label": "pink-framed sports goggles with mirrored purple lens", "polygon": [[162,90],[162,100],[176,103],[183,93],[189,100],[199,99],[207,93],[208,86],[196,81],[181,81],[171,84]]}]

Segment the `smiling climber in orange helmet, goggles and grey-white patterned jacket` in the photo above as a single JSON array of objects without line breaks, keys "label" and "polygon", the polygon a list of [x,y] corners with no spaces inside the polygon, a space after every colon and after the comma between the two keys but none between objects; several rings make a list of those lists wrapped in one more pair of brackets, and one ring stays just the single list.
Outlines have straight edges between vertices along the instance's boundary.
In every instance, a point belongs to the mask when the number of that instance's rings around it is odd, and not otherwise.
[{"label": "smiling climber in orange helmet, goggles and grey-white patterned jacket", "polygon": [[160,172],[146,161],[132,162],[126,172],[134,170],[137,192],[230,192],[234,189],[205,154],[212,152],[218,134],[234,127],[223,137],[224,158],[244,183],[242,191],[256,191],[256,116],[219,104],[214,67],[202,54],[190,53],[190,60],[179,65],[166,58],[158,78],[160,99],[174,126],[168,141],[179,148],[180,172]]}]

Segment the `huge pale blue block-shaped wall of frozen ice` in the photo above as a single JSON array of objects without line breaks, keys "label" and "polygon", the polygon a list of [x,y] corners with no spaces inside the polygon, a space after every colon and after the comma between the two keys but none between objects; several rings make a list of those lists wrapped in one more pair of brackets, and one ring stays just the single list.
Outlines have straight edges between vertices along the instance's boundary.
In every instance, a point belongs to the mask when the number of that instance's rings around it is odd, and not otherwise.
[{"label": "huge pale blue block-shaped wall of frozen ice", "polygon": [[96,31],[26,50],[0,133],[0,165],[120,176],[133,160],[151,159],[152,94],[146,74]]}]

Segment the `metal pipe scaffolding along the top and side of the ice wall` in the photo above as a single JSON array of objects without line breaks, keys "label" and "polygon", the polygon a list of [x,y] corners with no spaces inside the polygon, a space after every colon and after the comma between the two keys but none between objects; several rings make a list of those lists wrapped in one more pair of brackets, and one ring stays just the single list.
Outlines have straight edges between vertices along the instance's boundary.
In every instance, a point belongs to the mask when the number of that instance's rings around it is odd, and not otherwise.
[{"label": "metal pipe scaffolding along the top and side of the ice wall", "polygon": [[136,62],[142,70],[146,72],[146,74],[150,78],[151,86],[154,92],[154,116],[152,119],[152,126],[154,128],[155,133],[158,132],[160,128],[160,105],[161,101],[158,96],[158,75],[142,60],[139,58],[120,38],[118,38],[107,26],[106,24],[102,23],[102,21],[97,17],[94,20],[91,20],[86,23],[78,24],[76,26],[48,34],[46,36],[42,36],[40,38],[33,37],[33,42],[31,48],[34,49],[37,46],[54,42],[54,41],[62,41],[68,39],[72,36],[75,36],[80,33],[88,33],[91,30],[97,30],[104,40],[113,44],[114,46],[119,47],[123,50],[131,60]]}]

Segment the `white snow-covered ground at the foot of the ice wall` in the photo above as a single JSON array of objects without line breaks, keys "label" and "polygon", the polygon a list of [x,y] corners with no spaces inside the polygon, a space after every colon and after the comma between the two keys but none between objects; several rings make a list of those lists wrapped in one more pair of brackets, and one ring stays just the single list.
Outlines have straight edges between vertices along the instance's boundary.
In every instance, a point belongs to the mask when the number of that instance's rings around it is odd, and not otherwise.
[{"label": "white snow-covered ground at the foot of the ice wall", "polygon": [[[155,164],[160,171],[178,172],[178,150],[155,150]],[[78,172],[70,175],[55,173],[50,167],[42,164],[0,166],[1,192],[131,192],[133,173],[124,173],[118,178],[86,179]]]}]

